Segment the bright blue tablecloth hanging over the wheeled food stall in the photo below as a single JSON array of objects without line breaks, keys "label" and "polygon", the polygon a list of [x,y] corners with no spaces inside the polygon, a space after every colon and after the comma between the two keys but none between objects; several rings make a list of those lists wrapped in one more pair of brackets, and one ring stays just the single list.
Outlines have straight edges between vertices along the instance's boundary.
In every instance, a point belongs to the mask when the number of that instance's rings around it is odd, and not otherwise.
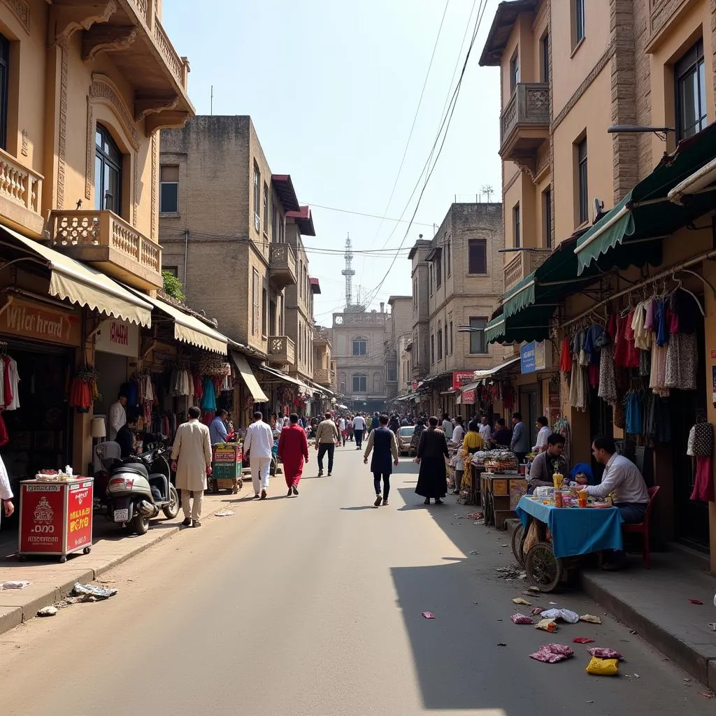
[{"label": "bright blue tablecloth hanging over the wheeled food stall", "polygon": [[616,507],[556,508],[524,496],[520,498],[516,512],[524,526],[527,526],[529,515],[546,523],[552,535],[552,548],[556,557],[624,548],[621,515]]}]

